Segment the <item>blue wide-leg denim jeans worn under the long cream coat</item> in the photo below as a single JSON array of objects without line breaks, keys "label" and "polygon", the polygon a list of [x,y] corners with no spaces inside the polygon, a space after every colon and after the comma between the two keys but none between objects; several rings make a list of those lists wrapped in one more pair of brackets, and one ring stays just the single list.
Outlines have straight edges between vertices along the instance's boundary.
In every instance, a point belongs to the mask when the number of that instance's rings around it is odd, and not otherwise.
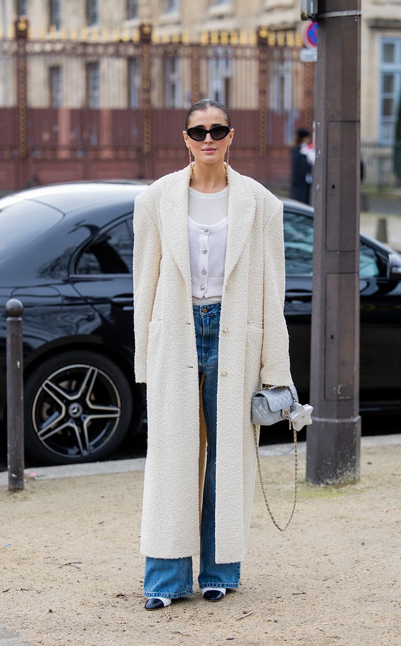
[{"label": "blue wide-leg denim jeans worn under the long cream coat", "polygon": [[[216,429],[220,303],[194,306],[198,375],[202,386],[203,414],[207,429],[207,459],[200,534],[200,588],[238,588],[240,563],[216,563],[214,515],[216,505]],[[143,589],[146,597],[177,599],[192,594],[192,557],[155,559],[145,563]]]}]

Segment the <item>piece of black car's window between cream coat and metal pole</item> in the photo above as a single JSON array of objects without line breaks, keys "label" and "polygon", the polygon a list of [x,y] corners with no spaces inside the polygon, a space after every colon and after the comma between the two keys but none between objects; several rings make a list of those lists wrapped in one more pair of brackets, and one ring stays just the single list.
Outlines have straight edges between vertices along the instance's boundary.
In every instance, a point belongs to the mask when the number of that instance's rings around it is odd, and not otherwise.
[{"label": "piece of black car's window between cream coat and metal pole", "polygon": [[284,213],[285,273],[312,275],[313,219],[299,213]]}]

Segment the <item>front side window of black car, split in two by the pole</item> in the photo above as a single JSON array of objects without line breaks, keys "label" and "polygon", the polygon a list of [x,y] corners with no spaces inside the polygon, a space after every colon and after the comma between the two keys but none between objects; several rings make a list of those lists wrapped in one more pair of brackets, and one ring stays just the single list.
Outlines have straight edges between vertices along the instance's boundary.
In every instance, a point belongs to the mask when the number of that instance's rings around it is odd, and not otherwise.
[{"label": "front side window of black car, split in two by the pole", "polygon": [[[285,272],[312,276],[313,219],[299,213],[284,213]],[[360,278],[380,276],[380,261],[375,249],[360,241]]]}]

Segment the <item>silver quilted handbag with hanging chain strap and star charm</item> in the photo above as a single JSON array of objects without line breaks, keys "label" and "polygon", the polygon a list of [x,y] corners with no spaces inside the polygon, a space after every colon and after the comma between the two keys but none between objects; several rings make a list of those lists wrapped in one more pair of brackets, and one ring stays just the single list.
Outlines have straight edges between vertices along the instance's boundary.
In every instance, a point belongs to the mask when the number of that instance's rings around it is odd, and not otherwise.
[{"label": "silver quilted handbag with hanging chain strap and star charm", "polygon": [[[283,532],[294,516],[295,505],[296,505],[296,491],[298,483],[298,451],[296,446],[296,432],[300,431],[303,426],[307,424],[312,424],[311,415],[313,412],[313,407],[309,404],[302,406],[298,402],[298,395],[296,393],[295,387],[291,386],[263,386],[261,390],[258,390],[252,397],[252,424],[253,424],[253,435],[254,435],[254,444],[256,449],[256,463],[258,464],[258,474],[260,479],[260,485],[262,486],[263,499],[269,516],[271,517],[274,525]],[[258,447],[258,430],[257,427],[262,426],[271,426],[271,424],[276,424],[283,419],[289,421],[290,428],[293,427],[294,431],[294,456],[295,456],[295,468],[294,468],[294,503],[293,510],[289,520],[283,527],[281,527],[274,516],[272,515],[269,503],[267,501],[267,495],[265,492],[265,486],[263,485],[262,479],[262,470],[260,468],[260,458],[259,458],[259,447]]]}]

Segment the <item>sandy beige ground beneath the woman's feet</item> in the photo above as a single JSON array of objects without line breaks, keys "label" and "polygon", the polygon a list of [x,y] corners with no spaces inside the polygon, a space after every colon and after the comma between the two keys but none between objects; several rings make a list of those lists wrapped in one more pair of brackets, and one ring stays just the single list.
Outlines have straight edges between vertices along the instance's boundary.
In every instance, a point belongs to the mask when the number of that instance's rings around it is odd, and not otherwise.
[{"label": "sandy beige ground beneath the woman's feet", "polygon": [[[192,598],[155,612],[141,590],[143,472],[29,481],[19,494],[3,487],[3,624],[18,643],[45,646],[400,646],[400,458],[399,444],[363,448],[353,486],[301,479],[284,534],[256,483],[240,589],[213,604],[195,585]],[[285,521],[292,459],[262,466]]]}]

